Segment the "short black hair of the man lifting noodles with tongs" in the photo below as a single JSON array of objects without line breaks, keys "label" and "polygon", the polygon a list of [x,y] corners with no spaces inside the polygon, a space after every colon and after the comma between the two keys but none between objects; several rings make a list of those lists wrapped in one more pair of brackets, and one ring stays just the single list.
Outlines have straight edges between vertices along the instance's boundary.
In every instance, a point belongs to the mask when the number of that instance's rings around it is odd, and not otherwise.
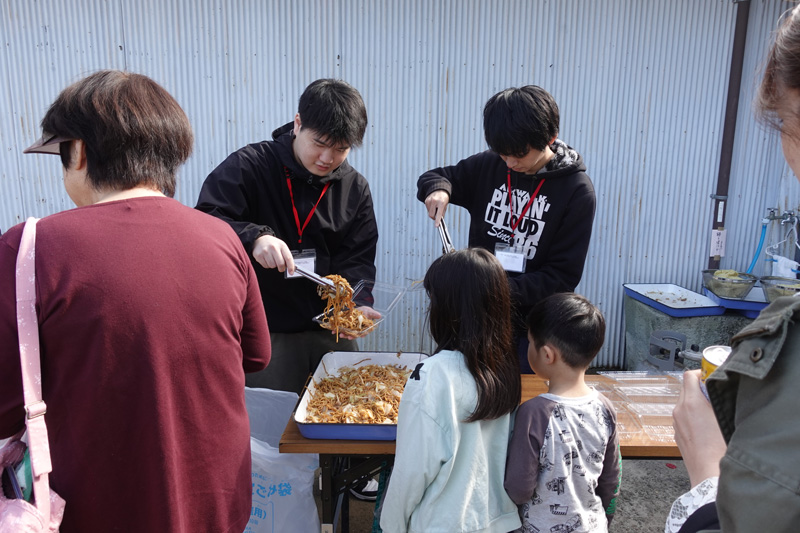
[{"label": "short black hair of the man lifting noodles with tongs", "polygon": [[361,146],[367,131],[367,108],[361,94],[347,82],[320,79],[300,95],[300,127],[334,145]]}]

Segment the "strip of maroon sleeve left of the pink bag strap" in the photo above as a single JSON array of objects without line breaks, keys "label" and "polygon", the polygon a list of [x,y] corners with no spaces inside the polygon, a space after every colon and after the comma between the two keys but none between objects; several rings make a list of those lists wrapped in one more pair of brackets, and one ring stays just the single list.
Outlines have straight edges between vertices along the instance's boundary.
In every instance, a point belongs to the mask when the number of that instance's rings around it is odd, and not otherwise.
[{"label": "strip of maroon sleeve left of the pink bag strap", "polygon": [[16,262],[22,225],[0,238],[0,439],[25,427],[16,309]]}]

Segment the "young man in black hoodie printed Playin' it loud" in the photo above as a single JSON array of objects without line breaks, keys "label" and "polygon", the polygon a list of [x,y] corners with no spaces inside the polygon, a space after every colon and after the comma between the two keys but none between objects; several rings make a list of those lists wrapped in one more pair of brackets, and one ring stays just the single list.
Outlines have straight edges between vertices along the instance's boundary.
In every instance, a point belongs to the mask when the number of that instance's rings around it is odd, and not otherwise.
[{"label": "young man in black hoodie printed Playin' it loud", "polygon": [[538,301],[578,285],[594,221],[594,187],[583,158],[558,139],[558,126],[558,105],[541,87],[500,91],[483,110],[489,150],[417,182],[436,226],[448,204],[466,208],[469,245],[503,263],[523,372],[531,372],[524,319]]}]

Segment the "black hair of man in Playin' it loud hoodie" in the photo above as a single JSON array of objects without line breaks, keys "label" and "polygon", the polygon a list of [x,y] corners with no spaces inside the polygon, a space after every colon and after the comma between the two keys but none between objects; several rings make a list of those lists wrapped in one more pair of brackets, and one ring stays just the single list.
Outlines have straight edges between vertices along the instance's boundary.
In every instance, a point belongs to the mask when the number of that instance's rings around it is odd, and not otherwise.
[{"label": "black hair of man in Playin' it loud hoodie", "polygon": [[531,148],[544,150],[558,135],[558,104],[536,85],[505,89],[483,108],[486,144],[501,155],[523,157]]}]

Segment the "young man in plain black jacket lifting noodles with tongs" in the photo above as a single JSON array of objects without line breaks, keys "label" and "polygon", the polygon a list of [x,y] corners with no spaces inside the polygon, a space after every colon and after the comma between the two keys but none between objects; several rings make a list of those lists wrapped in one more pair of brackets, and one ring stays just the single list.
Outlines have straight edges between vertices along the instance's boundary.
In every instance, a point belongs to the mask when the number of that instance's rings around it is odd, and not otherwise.
[{"label": "young man in plain black jacket lifting noodles with tongs", "polygon": [[351,285],[375,279],[372,196],[346,160],[366,128],[367,110],[355,88],[317,80],[300,96],[293,122],[272,132],[273,140],[232,153],[203,184],[197,209],[239,235],[255,263],[270,326],[272,361],[246,376],[249,387],[302,394],[325,353],[357,349],[354,340],[337,343],[312,320],[325,305],[317,285],[296,276],[295,264],[322,276],[338,274]]}]

